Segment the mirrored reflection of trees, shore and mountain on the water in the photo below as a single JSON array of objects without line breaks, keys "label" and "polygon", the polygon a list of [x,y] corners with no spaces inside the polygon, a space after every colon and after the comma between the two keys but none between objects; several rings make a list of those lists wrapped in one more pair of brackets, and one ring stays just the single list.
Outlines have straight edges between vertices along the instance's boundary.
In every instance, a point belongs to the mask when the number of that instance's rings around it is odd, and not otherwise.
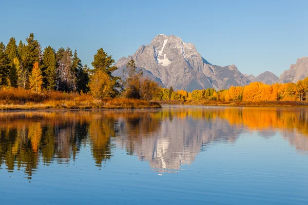
[{"label": "mirrored reflection of trees, shore and mountain on the water", "polygon": [[38,165],[70,163],[87,146],[99,167],[124,149],[157,172],[177,172],[208,145],[235,144],[249,132],[265,138],[280,133],[308,151],[305,108],[27,111],[2,112],[0,120],[0,168],[23,170],[29,179]]}]

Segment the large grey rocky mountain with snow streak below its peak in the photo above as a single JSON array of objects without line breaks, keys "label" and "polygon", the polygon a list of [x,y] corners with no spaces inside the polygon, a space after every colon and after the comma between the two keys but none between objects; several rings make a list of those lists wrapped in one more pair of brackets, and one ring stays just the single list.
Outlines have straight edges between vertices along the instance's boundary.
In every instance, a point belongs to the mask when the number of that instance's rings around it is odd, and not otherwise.
[{"label": "large grey rocky mountain with snow streak below its peak", "polygon": [[145,76],[156,80],[162,86],[175,90],[226,89],[230,86],[244,86],[249,80],[236,66],[215,66],[205,60],[191,43],[174,35],[160,34],[150,45],[142,45],[136,53],[122,57],[113,73],[122,76],[123,69],[130,59],[143,70]]}]

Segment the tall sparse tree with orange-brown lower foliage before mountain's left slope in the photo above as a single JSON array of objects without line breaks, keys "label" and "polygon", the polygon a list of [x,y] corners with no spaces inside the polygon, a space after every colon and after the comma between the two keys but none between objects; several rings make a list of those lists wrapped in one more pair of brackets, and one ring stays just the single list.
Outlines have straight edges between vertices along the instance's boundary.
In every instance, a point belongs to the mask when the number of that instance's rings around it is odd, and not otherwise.
[{"label": "tall sparse tree with orange-brown lower foliage before mountain's left slope", "polygon": [[129,60],[126,69],[123,70],[124,96],[128,98],[140,98],[140,80],[143,75],[141,69],[137,70],[133,59]]}]

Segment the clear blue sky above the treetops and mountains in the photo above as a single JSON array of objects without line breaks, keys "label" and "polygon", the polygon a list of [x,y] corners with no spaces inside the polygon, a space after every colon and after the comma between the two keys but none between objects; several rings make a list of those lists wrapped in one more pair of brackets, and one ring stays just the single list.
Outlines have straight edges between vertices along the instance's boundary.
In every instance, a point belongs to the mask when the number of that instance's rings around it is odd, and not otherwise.
[{"label": "clear blue sky above the treetops and mountains", "polygon": [[280,75],[308,56],[308,1],[2,1],[0,41],[33,32],[42,47],[103,48],[115,60],[164,33],[195,44],[210,63]]}]

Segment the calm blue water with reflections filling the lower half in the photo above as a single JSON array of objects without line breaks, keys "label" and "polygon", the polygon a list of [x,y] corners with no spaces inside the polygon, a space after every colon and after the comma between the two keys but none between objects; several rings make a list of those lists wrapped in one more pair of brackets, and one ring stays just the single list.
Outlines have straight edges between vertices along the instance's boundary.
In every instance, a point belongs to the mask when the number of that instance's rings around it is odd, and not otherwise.
[{"label": "calm blue water with reflections filling the lower half", "polygon": [[308,204],[308,109],[0,112],[1,204]]}]

